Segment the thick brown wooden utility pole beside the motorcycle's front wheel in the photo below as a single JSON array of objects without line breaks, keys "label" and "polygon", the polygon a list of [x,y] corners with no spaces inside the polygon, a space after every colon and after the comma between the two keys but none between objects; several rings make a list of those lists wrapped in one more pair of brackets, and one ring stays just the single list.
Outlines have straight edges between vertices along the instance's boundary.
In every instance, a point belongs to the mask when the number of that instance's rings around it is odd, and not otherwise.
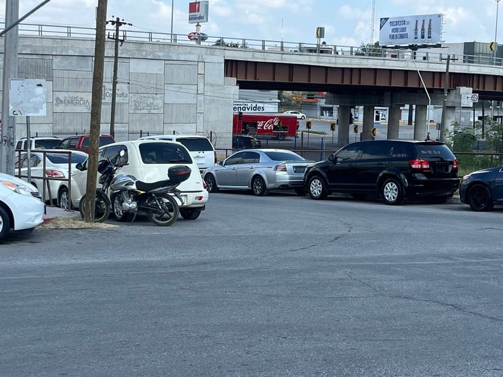
[{"label": "thick brown wooden utility pole beside the motorcycle's front wheel", "polygon": [[101,97],[105,68],[105,34],[107,30],[107,0],[98,0],[96,8],[96,40],[94,41],[94,70],[92,75],[91,124],[89,132],[88,180],[85,185],[84,221],[94,220],[98,148],[101,123]]}]

